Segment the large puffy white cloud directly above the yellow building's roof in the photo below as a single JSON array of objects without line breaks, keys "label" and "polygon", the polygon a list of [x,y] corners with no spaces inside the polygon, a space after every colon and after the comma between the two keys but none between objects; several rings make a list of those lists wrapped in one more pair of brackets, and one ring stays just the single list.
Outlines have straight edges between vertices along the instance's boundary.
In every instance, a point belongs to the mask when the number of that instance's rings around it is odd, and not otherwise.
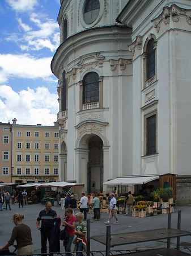
[{"label": "large puffy white cloud directly above the yellow building's roof", "polygon": [[14,92],[10,86],[0,86],[0,121],[14,118],[20,125],[54,125],[57,119],[57,94],[45,87]]}]

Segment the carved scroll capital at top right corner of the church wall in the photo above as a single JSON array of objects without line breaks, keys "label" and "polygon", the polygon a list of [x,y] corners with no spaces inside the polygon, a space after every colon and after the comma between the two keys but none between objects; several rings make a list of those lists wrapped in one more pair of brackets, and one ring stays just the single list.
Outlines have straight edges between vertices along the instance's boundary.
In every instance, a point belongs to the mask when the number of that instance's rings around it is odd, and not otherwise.
[{"label": "carved scroll capital at top right corner of the church wall", "polygon": [[188,15],[190,10],[182,9],[177,5],[171,5],[170,7],[164,7],[162,14],[158,18],[151,20],[153,27],[156,28],[156,32],[160,31],[160,24],[164,22],[165,25],[170,23],[172,19],[173,22],[179,22],[180,17],[185,17],[186,22],[191,25],[191,19]]}]

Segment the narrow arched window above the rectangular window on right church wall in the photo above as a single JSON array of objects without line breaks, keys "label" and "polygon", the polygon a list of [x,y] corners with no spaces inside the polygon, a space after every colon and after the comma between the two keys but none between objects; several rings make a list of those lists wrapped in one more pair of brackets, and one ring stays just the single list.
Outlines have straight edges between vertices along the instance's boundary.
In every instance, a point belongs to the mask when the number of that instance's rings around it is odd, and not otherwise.
[{"label": "narrow arched window above the rectangular window on right church wall", "polygon": [[146,47],[146,80],[155,76],[155,49],[154,49],[154,39],[151,38]]}]

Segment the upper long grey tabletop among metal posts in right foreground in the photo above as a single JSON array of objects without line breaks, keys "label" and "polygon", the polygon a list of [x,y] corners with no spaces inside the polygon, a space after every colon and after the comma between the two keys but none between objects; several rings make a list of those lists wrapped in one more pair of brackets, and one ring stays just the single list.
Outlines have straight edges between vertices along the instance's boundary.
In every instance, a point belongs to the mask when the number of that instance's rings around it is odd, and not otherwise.
[{"label": "upper long grey tabletop among metal posts in right foreground", "polygon": [[[128,245],[130,243],[141,243],[155,240],[163,240],[167,238],[191,236],[191,232],[178,229],[153,229],[132,233],[111,234],[110,246]],[[106,236],[92,237],[97,242],[107,244]]]}]

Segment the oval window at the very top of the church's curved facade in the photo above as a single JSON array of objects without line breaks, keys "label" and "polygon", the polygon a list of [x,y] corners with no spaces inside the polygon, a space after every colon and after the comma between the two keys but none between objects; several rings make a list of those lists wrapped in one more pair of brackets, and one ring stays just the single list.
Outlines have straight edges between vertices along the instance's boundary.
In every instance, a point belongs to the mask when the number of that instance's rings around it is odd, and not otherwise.
[{"label": "oval window at the very top of the church's curved facade", "polygon": [[99,15],[100,2],[99,0],[86,0],[83,11],[83,18],[87,24],[91,24]]}]

